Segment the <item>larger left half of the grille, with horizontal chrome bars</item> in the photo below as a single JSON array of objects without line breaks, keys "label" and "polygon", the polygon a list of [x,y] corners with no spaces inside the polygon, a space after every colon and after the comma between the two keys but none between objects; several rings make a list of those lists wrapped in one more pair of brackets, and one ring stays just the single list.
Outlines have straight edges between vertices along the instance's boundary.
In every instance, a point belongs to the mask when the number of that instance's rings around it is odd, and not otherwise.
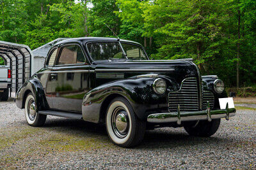
[{"label": "larger left half of the grille, with horizontal chrome bars", "polygon": [[178,104],[180,111],[198,111],[198,89],[196,78],[184,79],[179,91],[169,93],[169,111],[176,112]]}]

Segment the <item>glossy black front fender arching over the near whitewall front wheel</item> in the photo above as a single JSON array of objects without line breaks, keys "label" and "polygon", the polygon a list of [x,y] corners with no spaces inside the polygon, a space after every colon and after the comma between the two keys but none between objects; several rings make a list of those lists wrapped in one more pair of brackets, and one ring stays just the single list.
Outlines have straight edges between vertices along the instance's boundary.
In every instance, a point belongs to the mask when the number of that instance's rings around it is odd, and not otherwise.
[{"label": "glossy black front fender arching over the near whitewall front wheel", "polygon": [[[108,96],[117,94],[131,104],[134,113],[141,120],[154,111],[168,110],[168,91],[163,95],[157,95],[152,89],[155,78],[132,78],[119,80],[100,85],[90,90],[83,98],[83,119],[88,122],[98,123],[102,104],[108,100]],[[110,102],[110,101],[107,101]]]}]

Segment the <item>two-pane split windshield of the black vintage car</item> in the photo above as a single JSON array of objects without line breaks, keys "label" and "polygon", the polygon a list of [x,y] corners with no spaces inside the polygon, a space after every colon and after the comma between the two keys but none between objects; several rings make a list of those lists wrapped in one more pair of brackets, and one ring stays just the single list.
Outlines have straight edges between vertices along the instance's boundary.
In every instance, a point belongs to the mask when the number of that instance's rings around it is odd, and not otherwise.
[{"label": "two-pane split windshield of the black vintage car", "polygon": [[[147,55],[140,46],[118,42],[88,43],[87,48],[93,60],[132,59],[147,60]],[[127,55],[125,57],[125,54]]]}]

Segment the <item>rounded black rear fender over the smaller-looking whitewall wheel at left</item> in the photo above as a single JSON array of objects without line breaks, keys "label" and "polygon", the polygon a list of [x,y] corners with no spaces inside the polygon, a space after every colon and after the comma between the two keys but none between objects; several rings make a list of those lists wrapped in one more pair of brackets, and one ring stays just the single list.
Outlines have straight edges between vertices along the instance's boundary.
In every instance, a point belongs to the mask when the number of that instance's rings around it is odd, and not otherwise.
[{"label": "rounded black rear fender over the smaller-looking whitewall wheel at left", "polygon": [[16,93],[15,103],[18,108],[24,108],[26,97],[29,92],[32,92],[33,96],[35,96],[36,111],[47,107],[42,84],[40,83],[40,80],[38,80],[37,76],[34,75],[30,80],[26,81]]}]

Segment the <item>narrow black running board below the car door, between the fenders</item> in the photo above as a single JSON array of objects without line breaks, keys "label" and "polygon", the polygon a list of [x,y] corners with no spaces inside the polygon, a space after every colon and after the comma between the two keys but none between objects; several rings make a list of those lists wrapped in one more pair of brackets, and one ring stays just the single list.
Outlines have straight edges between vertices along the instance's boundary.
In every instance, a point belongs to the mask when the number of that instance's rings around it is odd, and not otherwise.
[{"label": "narrow black running board below the car door, between the fenders", "polygon": [[76,118],[76,119],[82,119],[82,114],[79,113],[70,113],[65,111],[54,111],[54,110],[40,110],[38,111],[39,114],[42,115],[51,115],[56,117],[66,117],[66,118]]}]

